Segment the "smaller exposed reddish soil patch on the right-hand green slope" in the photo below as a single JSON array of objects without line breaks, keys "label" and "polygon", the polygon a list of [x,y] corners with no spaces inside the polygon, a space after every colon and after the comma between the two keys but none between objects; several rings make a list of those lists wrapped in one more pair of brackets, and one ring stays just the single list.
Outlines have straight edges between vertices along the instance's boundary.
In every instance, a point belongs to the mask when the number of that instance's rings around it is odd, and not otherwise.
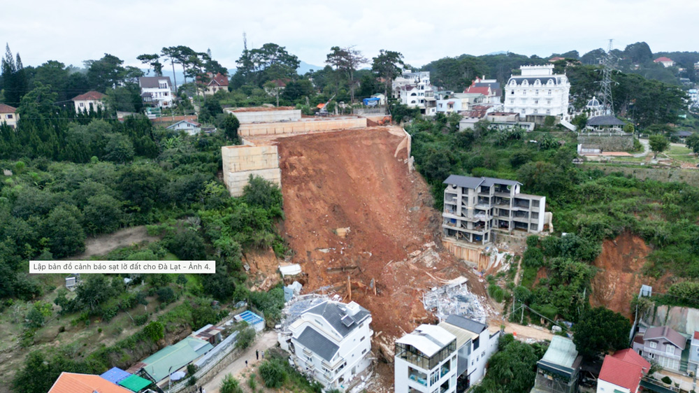
[{"label": "smaller exposed reddish soil patch on the right-hand green slope", "polygon": [[651,248],[642,238],[624,232],[614,240],[605,240],[594,266],[600,269],[592,280],[591,306],[605,306],[633,320],[630,301],[638,296],[641,285],[665,290],[670,273],[660,279],[641,273]]}]

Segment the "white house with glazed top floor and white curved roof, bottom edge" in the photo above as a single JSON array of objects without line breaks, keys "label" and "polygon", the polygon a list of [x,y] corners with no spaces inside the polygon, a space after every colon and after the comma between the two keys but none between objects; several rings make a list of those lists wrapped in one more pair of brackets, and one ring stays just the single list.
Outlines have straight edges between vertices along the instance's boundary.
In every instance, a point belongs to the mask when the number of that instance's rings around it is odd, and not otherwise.
[{"label": "white house with glazed top floor and white curved roof, bottom edge", "polygon": [[456,336],[443,327],[421,324],[396,340],[396,393],[455,393]]}]

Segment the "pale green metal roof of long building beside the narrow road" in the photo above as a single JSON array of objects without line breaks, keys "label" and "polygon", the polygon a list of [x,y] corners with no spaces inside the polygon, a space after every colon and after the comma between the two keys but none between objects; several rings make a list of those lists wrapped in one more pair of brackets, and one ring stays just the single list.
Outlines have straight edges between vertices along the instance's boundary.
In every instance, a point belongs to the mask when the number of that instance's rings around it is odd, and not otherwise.
[{"label": "pale green metal roof of long building beside the narrow road", "polygon": [[209,352],[213,347],[208,341],[187,337],[174,345],[169,345],[143,359],[143,367],[156,381],[167,378],[190,362]]}]

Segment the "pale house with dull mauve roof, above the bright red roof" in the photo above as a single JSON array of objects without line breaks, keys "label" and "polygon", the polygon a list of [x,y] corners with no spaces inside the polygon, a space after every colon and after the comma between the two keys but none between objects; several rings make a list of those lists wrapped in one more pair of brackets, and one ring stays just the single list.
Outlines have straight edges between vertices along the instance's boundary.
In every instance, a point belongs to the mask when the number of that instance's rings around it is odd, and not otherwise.
[{"label": "pale house with dull mauve roof, above the bright red roof", "polygon": [[682,369],[682,351],[687,338],[667,326],[650,327],[633,339],[633,350],[648,361],[658,362],[663,369],[679,372]]}]

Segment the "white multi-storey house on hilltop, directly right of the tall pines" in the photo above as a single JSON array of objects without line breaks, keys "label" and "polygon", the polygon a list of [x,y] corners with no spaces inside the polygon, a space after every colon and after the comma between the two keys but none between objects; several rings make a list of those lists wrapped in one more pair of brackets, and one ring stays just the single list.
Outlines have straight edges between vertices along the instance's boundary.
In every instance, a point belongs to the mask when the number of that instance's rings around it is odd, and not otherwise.
[{"label": "white multi-storey house on hilltop, directly right of the tall pines", "polygon": [[434,89],[428,71],[403,72],[393,82],[394,97],[410,108],[419,108],[423,115],[435,115]]}]

